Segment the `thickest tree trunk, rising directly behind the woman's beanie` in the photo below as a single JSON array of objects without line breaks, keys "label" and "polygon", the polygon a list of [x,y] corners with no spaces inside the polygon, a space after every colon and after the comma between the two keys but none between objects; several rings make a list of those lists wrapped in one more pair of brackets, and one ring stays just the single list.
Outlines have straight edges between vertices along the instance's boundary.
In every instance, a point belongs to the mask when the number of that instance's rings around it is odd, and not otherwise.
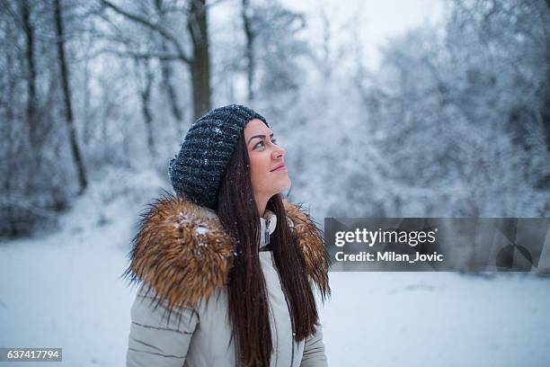
[{"label": "thickest tree trunk, rising directly behind the woman's beanie", "polygon": [[210,104],[210,59],[208,55],[208,28],[206,0],[190,0],[191,9],[187,29],[193,42],[191,84],[193,88],[194,118],[208,112]]}]

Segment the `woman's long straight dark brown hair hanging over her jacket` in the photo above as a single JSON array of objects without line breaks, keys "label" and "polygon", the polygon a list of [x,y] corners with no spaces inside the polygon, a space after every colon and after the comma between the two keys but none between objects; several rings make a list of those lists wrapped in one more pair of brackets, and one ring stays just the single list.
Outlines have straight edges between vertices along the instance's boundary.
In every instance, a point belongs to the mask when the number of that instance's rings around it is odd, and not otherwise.
[{"label": "woman's long straight dark brown hair hanging over her jacket", "polygon": [[[318,325],[315,297],[307,279],[305,260],[298,251],[297,237],[288,226],[280,193],[271,197],[267,209],[277,215],[270,243],[287,299],[292,331],[298,342],[314,334],[315,325]],[[219,186],[217,216],[233,237],[235,246],[227,295],[237,361],[244,366],[269,366],[273,342],[268,295],[258,253],[260,214],[253,197],[244,133]]]}]

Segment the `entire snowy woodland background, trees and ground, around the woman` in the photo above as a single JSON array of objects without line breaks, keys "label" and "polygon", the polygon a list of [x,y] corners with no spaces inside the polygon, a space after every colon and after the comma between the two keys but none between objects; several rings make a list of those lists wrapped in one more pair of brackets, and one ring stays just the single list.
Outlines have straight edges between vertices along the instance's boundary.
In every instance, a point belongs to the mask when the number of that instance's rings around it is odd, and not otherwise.
[{"label": "entire snowy woodland background, trees and ground, around the woman", "polygon": [[[0,346],[124,363],[139,211],[172,191],[192,121],[229,103],[267,118],[320,224],[549,217],[550,4],[432,2],[437,20],[373,48],[377,1],[0,0]],[[546,277],[331,286],[331,365],[550,365]]]}]

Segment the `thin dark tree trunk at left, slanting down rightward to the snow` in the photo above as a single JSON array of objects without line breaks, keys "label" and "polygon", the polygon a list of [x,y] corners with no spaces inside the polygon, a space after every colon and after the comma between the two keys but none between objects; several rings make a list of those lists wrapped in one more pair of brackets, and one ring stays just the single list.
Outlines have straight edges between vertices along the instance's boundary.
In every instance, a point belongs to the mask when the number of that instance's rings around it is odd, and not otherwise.
[{"label": "thin dark tree trunk at left, slanting down rightward to the snow", "polygon": [[80,154],[80,148],[76,140],[75,121],[73,119],[73,109],[71,106],[71,94],[69,92],[69,70],[67,68],[67,61],[65,59],[65,40],[63,31],[63,14],[61,13],[61,0],[54,0],[54,19],[56,22],[56,31],[58,36],[58,62],[61,71],[61,84],[63,86],[63,96],[65,99],[65,117],[67,121],[67,128],[69,133],[69,142],[71,145],[71,151],[73,158],[75,159],[76,172],[78,174],[78,184],[80,186],[79,194],[82,194],[88,185],[86,179],[86,173],[84,170],[84,163]]}]

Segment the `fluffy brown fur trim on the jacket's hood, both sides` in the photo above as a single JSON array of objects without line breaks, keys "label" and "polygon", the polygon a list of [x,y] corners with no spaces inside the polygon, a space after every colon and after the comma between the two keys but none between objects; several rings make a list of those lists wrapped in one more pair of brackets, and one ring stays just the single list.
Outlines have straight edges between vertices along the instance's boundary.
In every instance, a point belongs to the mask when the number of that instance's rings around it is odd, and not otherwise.
[{"label": "fluffy brown fur trim on the jacket's hood, both sides", "polygon": [[[329,256],[320,231],[301,205],[283,202],[306,273],[322,294],[330,293]],[[122,278],[152,286],[157,305],[166,301],[169,310],[193,308],[226,285],[234,250],[214,210],[164,193],[147,204],[140,217]]]}]

